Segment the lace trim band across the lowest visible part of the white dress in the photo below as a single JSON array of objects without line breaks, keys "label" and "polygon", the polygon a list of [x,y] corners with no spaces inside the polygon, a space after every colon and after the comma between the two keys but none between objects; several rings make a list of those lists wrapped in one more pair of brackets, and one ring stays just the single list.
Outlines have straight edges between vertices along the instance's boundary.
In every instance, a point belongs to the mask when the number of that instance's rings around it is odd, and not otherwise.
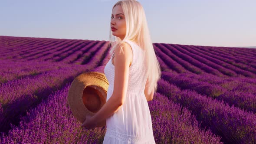
[{"label": "lace trim band across the lowest visible part of the white dress", "polygon": [[117,138],[118,140],[125,141],[125,142],[127,142],[127,141],[129,141],[129,142],[145,142],[145,141],[149,141],[150,139],[152,139],[152,137],[154,137],[152,131],[149,131],[149,133],[143,137],[137,137],[137,136],[131,136],[131,135],[127,135],[127,134],[121,134],[121,133],[118,133],[118,132],[108,129],[108,128],[107,128],[105,135],[108,137]]}]

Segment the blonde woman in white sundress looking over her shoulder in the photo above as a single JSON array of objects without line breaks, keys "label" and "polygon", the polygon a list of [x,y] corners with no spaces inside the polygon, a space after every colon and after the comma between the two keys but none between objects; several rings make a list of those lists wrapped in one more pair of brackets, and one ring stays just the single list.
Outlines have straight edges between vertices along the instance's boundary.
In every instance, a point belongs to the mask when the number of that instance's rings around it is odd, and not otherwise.
[{"label": "blonde woman in white sundress looking over her shoulder", "polygon": [[161,69],[141,4],[136,0],[115,3],[110,27],[112,58],[104,69],[109,82],[107,102],[82,126],[94,129],[106,120],[103,144],[155,144],[147,101],[156,92]]}]

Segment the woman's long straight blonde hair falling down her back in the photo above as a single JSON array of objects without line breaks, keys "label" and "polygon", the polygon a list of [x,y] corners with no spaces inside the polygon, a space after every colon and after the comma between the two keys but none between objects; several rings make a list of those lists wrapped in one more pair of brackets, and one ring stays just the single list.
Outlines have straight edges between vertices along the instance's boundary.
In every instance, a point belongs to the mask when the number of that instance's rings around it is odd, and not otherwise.
[{"label": "woman's long straight blonde hair falling down her back", "polygon": [[125,15],[126,34],[123,40],[117,36],[113,36],[110,24],[109,39],[110,45],[113,47],[109,53],[112,54],[117,46],[121,46],[122,48],[121,44],[124,43],[126,39],[137,42],[138,46],[144,50],[146,76],[148,77],[148,90],[151,92],[154,88],[154,92],[156,92],[158,88],[157,82],[161,77],[161,68],[149,34],[144,8],[136,0],[120,0],[115,3],[112,10],[117,5],[121,5]]}]

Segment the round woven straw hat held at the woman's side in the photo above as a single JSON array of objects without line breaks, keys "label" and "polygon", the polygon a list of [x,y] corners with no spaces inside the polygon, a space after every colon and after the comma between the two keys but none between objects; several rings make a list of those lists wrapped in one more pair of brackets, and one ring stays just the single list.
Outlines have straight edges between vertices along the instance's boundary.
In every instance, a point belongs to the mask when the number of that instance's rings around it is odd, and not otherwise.
[{"label": "round woven straw hat held at the woman's side", "polygon": [[[108,80],[101,72],[86,72],[77,76],[69,88],[69,108],[75,118],[83,123],[86,115],[93,116],[106,103]],[[97,127],[103,127],[106,121]]]}]

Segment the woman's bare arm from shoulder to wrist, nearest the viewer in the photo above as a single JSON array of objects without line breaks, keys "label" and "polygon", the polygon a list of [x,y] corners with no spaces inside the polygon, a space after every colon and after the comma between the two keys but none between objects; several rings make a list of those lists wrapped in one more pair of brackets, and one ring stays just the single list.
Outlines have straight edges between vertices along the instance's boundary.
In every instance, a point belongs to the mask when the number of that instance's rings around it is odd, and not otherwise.
[{"label": "woman's bare arm from shoulder to wrist, nearest the viewer", "polygon": [[124,104],[128,89],[129,65],[131,60],[132,50],[128,43],[124,43],[123,49],[121,49],[121,47],[115,49],[113,93],[105,105],[92,116],[92,120],[96,123],[104,121],[106,118],[113,115]]}]

